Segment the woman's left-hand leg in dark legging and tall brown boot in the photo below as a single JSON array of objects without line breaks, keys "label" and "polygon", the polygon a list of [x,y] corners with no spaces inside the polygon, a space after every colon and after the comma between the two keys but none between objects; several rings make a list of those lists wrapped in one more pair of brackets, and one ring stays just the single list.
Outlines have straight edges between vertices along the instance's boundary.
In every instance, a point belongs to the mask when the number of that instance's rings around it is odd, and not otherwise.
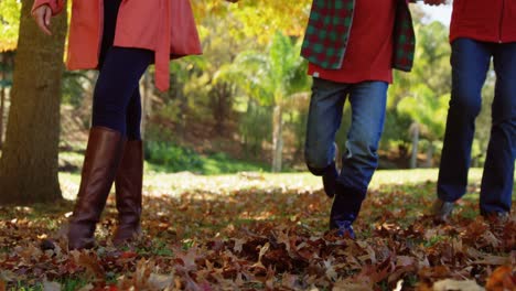
[{"label": "woman's left-hand leg in dark legging and tall brown boot", "polygon": [[68,229],[68,248],[93,247],[95,225],[106,204],[125,146],[126,109],[152,52],[112,47],[94,93],[93,127],[80,187]]}]

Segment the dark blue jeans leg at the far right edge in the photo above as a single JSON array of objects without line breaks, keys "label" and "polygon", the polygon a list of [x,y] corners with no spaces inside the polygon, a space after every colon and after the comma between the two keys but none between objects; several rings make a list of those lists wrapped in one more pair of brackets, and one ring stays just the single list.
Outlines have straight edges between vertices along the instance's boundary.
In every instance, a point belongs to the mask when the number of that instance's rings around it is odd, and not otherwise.
[{"label": "dark blue jeans leg at the far right edge", "polygon": [[516,155],[516,43],[495,44],[493,60],[496,85],[481,186],[483,215],[510,212]]}]

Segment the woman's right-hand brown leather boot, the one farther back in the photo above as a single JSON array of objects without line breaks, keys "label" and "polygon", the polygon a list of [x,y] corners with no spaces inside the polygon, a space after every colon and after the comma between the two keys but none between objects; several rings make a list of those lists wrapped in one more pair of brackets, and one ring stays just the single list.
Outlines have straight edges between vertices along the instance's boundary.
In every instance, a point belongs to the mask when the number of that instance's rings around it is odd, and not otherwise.
[{"label": "woman's right-hand brown leather boot, the one farther back", "polygon": [[141,140],[128,140],[115,179],[118,227],[112,242],[127,242],[141,233],[141,188],[143,180],[143,149]]}]

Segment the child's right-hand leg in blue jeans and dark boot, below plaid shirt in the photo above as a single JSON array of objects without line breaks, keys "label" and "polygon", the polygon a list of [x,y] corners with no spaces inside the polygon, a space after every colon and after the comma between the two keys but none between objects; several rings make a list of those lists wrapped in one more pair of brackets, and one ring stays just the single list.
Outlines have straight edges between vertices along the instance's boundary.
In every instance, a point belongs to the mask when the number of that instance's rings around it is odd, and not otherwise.
[{"label": "child's right-hand leg in blue jeans and dark boot, below plaid shirt", "polygon": [[387,88],[385,82],[363,82],[350,88],[352,125],[336,181],[335,200],[330,214],[331,229],[351,228],[378,166],[377,150],[384,130]]}]

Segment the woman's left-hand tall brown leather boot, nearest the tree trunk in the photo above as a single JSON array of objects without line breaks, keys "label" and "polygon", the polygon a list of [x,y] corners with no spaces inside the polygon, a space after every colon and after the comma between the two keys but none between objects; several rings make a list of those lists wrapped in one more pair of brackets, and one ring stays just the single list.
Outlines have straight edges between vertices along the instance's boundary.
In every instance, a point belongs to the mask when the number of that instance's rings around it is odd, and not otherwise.
[{"label": "woman's left-hand tall brown leather boot, nearest the tree trunk", "polygon": [[95,246],[95,226],[106,206],[123,144],[125,140],[118,131],[104,127],[89,130],[79,192],[69,220],[68,249]]}]

